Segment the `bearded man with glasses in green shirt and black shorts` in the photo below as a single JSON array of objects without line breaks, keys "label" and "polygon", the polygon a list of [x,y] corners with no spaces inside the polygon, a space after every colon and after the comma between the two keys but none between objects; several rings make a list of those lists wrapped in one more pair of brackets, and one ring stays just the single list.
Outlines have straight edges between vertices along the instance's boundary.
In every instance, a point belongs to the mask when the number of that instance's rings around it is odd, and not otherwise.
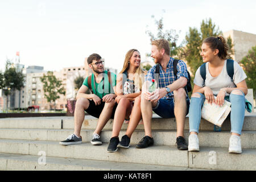
[{"label": "bearded man with glasses in green shirt and black shorts", "polygon": [[[102,144],[100,140],[101,130],[110,118],[114,118],[117,107],[115,104],[116,95],[114,94],[117,76],[114,73],[104,71],[104,61],[97,53],[90,55],[87,63],[93,73],[85,78],[77,93],[74,133],[69,135],[66,140],[61,141],[60,144],[62,145],[82,143],[80,132],[85,117],[84,111],[98,118],[96,130],[91,140],[94,145]],[[92,94],[86,94],[88,89],[91,90]]]}]

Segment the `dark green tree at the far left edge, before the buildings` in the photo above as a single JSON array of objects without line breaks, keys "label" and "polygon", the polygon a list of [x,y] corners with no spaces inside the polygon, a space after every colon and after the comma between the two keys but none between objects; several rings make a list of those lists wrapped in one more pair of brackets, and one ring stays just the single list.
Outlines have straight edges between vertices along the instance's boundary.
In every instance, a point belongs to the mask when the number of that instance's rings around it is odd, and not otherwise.
[{"label": "dark green tree at the far left edge, before the buildings", "polygon": [[11,60],[6,60],[5,72],[3,73],[2,88],[7,97],[6,108],[8,109],[9,95],[11,91],[20,90],[24,87],[25,76],[21,69],[15,67]]}]

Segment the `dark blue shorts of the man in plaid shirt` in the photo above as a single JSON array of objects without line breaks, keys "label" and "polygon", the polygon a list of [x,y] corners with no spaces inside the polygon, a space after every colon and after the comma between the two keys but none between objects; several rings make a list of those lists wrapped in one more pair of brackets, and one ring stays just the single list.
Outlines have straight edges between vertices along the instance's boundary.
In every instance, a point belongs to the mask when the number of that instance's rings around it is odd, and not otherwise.
[{"label": "dark blue shorts of the man in plaid shirt", "polygon": [[[187,101],[187,114],[188,114],[189,104],[190,104],[188,97],[186,101]],[[160,100],[158,101],[158,104],[152,109],[156,114],[158,114],[162,118],[175,118],[173,98],[171,100],[160,98]]]}]

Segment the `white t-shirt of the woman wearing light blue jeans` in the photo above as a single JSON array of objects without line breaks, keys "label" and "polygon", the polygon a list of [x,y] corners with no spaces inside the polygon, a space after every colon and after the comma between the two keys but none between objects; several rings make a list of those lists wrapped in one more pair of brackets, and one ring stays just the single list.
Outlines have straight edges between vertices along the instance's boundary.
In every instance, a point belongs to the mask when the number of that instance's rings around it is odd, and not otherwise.
[{"label": "white t-shirt of the woman wearing light blue jeans", "polygon": [[[240,65],[237,63],[237,61],[234,61],[234,76],[233,81],[228,75],[228,72],[226,71],[226,60],[224,63],[224,67],[222,68],[222,71],[220,75],[217,77],[212,77],[209,72],[208,63],[206,63],[206,76],[205,76],[205,86],[209,86],[210,89],[212,89],[214,96],[217,96],[218,92],[221,88],[235,88],[236,86],[234,84],[238,84],[241,81],[245,80],[247,77],[245,75],[245,72],[240,67]],[[196,71],[194,84],[197,86],[203,87],[204,79],[200,75],[200,67]],[[229,96],[229,93],[226,94],[226,96]]]}]

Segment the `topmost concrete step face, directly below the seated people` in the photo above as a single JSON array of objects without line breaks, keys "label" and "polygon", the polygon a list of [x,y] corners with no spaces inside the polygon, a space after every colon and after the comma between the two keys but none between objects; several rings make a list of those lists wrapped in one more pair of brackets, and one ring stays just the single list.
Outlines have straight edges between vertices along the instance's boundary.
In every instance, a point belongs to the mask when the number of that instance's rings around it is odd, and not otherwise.
[{"label": "topmost concrete step face, directly below the seated people", "polygon": [[[185,119],[185,130],[189,130],[188,117]],[[82,129],[95,129],[97,118],[85,116]],[[127,129],[128,124],[123,123],[122,129]],[[152,130],[176,130],[176,119],[164,119],[154,114],[152,118]],[[201,119],[200,130],[213,130],[213,124]],[[30,129],[73,129],[74,117],[34,117],[34,118],[2,118],[0,128],[30,128]],[[110,119],[104,129],[113,128],[113,119]],[[143,130],[143,125],[137,129]],[[256,115],[246,115],[243,122],[243,131],[256,131]],[[222,125],[222,131],[230,131],[230,119],[226,119]]]}]

